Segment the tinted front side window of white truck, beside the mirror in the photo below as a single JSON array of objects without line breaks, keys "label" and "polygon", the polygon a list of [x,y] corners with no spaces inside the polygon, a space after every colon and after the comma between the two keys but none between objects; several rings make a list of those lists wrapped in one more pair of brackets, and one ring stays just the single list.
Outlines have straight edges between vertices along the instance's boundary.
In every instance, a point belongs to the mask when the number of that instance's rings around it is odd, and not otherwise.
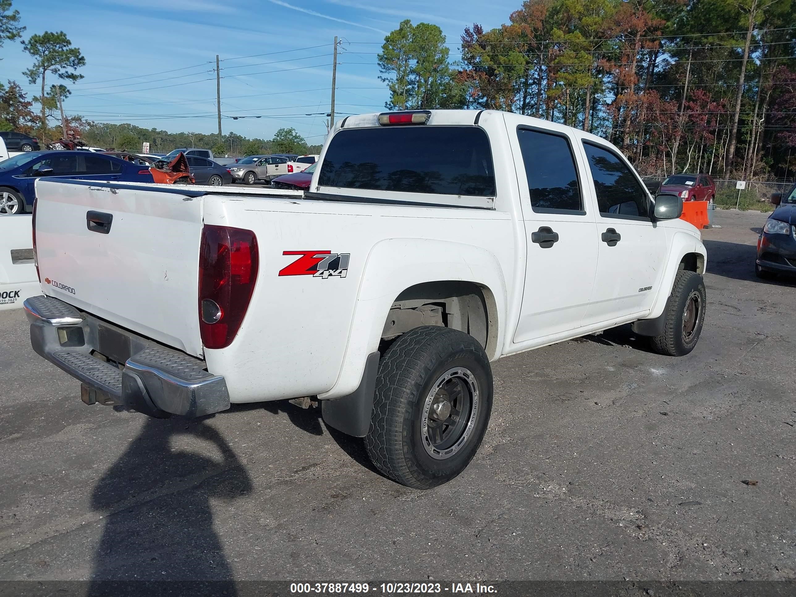
[{"label": "tinted front side window of white truck, beside the mirror", "polygon": [[599,213],[607,217],[650,215],[646,190],[616,154],[584,142],[591,178],[595,181]]}]

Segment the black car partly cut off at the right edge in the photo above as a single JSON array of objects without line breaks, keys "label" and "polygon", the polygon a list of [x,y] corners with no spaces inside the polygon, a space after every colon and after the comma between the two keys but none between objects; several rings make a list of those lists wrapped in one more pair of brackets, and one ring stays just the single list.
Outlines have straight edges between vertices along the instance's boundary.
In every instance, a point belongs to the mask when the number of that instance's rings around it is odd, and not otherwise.
[{"label": "black car partly cut off at the right edge", "polygon": [[773,193],[771,203],[778,205],[763,224],[757,240],[755,274],[773,278],[776,274],[796,275],[796,185],[786,193]]}]

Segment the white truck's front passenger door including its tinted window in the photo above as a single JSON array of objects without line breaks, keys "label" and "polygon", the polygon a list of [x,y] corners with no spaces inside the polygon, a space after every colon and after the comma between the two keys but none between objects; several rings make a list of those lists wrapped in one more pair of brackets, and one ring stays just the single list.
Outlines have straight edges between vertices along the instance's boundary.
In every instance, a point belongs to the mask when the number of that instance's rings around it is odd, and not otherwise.
[{"label": "white truck's front passenger door including its tinted window", "polygon": [[611,322],[649,310],[666,258],[665,229],[638,175],[613,146],[583,141],[587,188],[596,208],[597,276],[584,323]]}]

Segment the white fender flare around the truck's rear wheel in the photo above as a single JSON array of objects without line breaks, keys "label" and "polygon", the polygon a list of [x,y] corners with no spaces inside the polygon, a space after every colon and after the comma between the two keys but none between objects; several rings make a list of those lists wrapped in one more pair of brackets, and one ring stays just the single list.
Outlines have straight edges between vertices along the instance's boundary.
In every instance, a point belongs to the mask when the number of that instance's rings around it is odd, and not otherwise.
[{"label": "white fender flare around the truck's rear wheel", "polygon": [[472,244],[416,238],[381,240],[365,260],[338,380],[318,398],[339,398],[354,392],[362,380],[365,361],[379,348],[392,303],[409,287],[439,281],[470,282],[482,288],[490,318],[488,355],[490,361],[497,359],[503,344],[507,302],[497,258]]}]

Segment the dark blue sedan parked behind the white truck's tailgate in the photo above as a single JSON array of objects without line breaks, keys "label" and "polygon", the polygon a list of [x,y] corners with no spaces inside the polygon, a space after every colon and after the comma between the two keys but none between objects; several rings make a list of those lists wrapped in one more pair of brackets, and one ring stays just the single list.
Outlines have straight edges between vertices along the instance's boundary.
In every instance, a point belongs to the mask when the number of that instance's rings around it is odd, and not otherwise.
[{"label": "dark blue sedan parked behind the white truck's tailgate", "polygon": [[92,181],[153,182],[149,168],[88,151],[28,151],[0,162],[0,216],[33,211],[42,176]]}]

